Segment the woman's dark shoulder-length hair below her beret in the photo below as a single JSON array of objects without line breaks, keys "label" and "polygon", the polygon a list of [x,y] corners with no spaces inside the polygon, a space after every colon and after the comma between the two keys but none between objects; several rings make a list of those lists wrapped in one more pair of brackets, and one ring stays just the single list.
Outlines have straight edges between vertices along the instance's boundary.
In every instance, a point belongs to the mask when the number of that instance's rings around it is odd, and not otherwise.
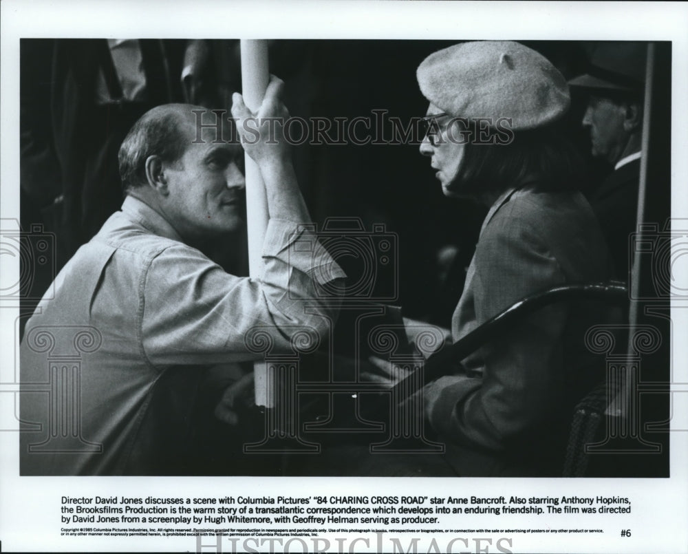
[{"label": "woman's dark shoulder-length hair below her beret", "polygon": [[[469,126],[473,140],[464,147],[455,181],[458,189],[501,193],[528,182],[541,190],[563,191],[583,184],[583,158],[557,125],[510,132],[506,141],[503,130],[489,130],[486,136],[485,129],[478,131],[475,125]],[[480,141],[475,140],[478,136]]]}]

